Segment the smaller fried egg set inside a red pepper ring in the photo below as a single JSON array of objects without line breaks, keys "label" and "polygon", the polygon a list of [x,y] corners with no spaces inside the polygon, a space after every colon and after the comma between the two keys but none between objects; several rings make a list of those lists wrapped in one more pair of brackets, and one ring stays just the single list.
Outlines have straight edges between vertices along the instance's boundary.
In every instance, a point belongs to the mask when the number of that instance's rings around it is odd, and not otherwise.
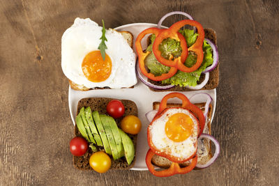
[{"label": "smaller fried egg set inside a red pepper ring", "polygon": [[149,135],[155,153],[187,160],[197,151],[199,122],[183,108],[170,108],[149,125]]}]

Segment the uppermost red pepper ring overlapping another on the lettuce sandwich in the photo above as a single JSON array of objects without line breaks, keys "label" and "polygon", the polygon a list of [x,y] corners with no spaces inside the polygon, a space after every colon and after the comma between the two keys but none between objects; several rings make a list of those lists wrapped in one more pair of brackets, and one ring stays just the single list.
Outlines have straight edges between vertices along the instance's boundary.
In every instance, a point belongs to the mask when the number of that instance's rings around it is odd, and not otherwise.
[{"label": "uppermost red pepper ring overlapping another on the lettuce sandwich", "polygon": [[[185,38],[184,37],[180,38],[179,37],[180,34],[178,32],[179,29],[185,26],[186,24],[195,26],[197,28],[197,33],[199,33],[196,42],[194,43],[194,45],[192,45],[189,48],[187,48]],[[163,56],[161,56],[159,45],[165,38],[174,38],[181,42],[180,43],[182,47],[181,58],[178,57],[172,61],[172,59],[167,60],[164,59]],[[203,43],[204,43],[204,29],[202,27],[202,24],[193,20],[182,20],[170,26],[169,29],[162,31],[162,33],[160,33],[158,37],[156,37],[153,43],[153,53],[156,56],[156,59],[163,65],[176,67],[182,72],[193,72],[199,68],[199,66],[202,64],[202,61],[204,60],[204,52],[202,50]],[[195,65],[193,65],[190,68],[184,65],[184,62],[188,56],[188,51],[195,52],[195,54],[197,55],[197,62],[195,63]]]}]

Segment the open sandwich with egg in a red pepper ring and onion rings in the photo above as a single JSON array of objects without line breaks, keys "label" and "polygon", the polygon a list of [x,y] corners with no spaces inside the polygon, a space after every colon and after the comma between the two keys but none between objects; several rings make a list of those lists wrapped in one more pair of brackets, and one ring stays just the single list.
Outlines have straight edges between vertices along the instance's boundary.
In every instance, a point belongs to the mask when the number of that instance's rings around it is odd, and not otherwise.
[{"label": "open sandwich with egg in a red pepper ring and onion rings", "polygon": [[[204,96],[202,104],[190,102],[195,96]],[[169,98],[179,98],[182,104],[168,104]],[[169,93],[161,102],[153,103],[153,111],[146,114],[150,121],[147,130],[149,151],[146,165],[155,176],[172,176],[204,169],[218,157],[220,146],[211,134],[211,101],[206,93],[188,98],[181,93]],[[211,155],[211,143],[215,153]],[[158,166],[163,171],[155,169]]]}]

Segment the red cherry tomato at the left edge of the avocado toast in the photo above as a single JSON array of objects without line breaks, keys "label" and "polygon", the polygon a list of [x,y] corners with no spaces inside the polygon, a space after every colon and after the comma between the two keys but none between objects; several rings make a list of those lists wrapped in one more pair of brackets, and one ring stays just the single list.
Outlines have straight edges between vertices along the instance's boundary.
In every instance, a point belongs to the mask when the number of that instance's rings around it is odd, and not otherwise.
[{"label": "red cherry tomato at the left edge of the avocado toast", "polygon": [[70,153],[75,156],[84,155],[87,148],[87,141],[82,137],[74,137],[72,140],[70,140]]}]

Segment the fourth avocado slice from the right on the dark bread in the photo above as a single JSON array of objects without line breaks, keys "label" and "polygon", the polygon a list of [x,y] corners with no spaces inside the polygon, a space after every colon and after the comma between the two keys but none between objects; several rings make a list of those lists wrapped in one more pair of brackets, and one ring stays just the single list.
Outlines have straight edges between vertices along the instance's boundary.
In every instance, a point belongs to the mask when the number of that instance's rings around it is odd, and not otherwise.
[{"label": "fourth avocado slice from the right on the dark bread", "polygon": [[93,119],[96,123],[97,130],[100,134],[100,139],[103,141],[103,146],[105,148],[105,152],[109,155],[112,155],[112,150],[110,149],[109,141],[107,141],[107,135],[105,134],[105,129],[103,127],[102,122],[100,121],[100,115],[98,111],[92,112]]}]

